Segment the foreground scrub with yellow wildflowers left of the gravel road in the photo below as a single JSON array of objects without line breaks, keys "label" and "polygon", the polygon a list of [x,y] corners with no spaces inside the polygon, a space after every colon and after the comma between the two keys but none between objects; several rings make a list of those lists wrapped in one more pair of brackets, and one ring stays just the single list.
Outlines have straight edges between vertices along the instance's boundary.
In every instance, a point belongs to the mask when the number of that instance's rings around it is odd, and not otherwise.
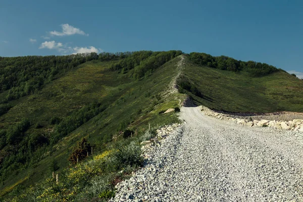
[{"label": "foreground scrub with yellow wildflowers left of the gravel road", "polygon": [[[11,201],[106,201],[115,195],[114,186],[142,165],[141,138],[119,142],[96,156],[86,157],[74,167],[56,172],[36,186],[11,192]],[[85,140],[81,140],[81,145]],[[86,144],[89,142],[86,141]],[[119,172],[119,171],[123,172]],[[56,182],[58,174],[58,183]],[[56,176],[56,177],[55,177]]]}]

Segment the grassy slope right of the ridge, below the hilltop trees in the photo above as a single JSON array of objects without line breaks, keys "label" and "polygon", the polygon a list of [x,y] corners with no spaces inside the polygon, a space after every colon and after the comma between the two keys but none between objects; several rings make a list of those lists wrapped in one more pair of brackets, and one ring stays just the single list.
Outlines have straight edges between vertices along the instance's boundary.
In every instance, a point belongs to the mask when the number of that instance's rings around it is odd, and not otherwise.
[{"label": "grassy slope right of the ridge, below the hilltop trees", "polygon": [[251,76],[200,66],[187,57],[179,85],[198,105],[228,112],[303,112],[303,80],[286,72]]}]

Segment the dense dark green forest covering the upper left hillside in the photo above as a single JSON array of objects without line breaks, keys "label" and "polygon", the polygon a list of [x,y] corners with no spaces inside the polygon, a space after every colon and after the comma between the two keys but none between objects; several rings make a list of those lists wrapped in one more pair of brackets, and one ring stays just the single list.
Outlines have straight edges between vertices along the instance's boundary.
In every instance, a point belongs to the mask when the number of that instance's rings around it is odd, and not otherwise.
[{"label": "dense dark green forest covering the upper left hillside", "polygon": [[0,91],[9,90],[2,102],[17,99],[82,63],[97,60],[96,53],[69,56],[0,57]]}]

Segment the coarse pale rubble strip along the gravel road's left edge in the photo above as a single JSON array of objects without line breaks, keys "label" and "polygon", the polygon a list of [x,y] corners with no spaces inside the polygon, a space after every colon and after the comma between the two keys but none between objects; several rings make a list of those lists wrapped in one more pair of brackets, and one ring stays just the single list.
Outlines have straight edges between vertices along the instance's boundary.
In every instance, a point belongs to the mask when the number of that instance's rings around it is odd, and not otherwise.
[{"label": "coarse pale rubble strip along the gravel road's left edge", "polygon": [[[175,148],[167,148],[168,144],[164,142],[178,142],[181,130],[182,124],[164,126],[157,130],[156,137],[142,141],[143,168],[133,173],[131,178],[118,183],[115,186],[116,196],[109,201],[163,201],[166,189],[153,181],[153,175],[160,172],[164,164],[173,161]],[[157,188],[152,188],[155,186]]]}]

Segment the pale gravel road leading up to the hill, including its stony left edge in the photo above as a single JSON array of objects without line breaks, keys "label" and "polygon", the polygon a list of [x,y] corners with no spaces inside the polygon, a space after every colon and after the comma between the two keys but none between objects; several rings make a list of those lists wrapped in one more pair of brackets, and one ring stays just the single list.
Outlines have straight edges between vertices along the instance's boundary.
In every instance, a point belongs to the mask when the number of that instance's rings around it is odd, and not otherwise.
[{"label": "pale gravel road leading up to the hill, including its stony left edge", "polygon": [[303,134],[181,109],[185,124],[148,151],[113,201],[303,201]]}]

